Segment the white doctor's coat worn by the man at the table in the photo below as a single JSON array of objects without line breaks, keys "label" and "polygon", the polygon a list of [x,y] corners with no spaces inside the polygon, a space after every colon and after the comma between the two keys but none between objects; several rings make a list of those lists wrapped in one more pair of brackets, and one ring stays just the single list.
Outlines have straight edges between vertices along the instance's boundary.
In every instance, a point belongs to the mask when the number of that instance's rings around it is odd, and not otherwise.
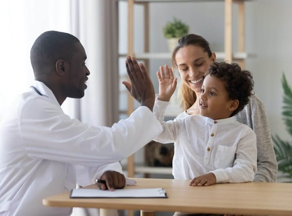
[{"label": "white doctor's coat worn by the man at the table", "polygon": [[[161,132],[144,106],[111,128],[82,124],[64,114],[42,82],[22,94],[0,125],[0,215],[69,215],[71,208],[42,199],[94,183],[106,170]],[[110,165],[106,165],[113,163]]]}]

